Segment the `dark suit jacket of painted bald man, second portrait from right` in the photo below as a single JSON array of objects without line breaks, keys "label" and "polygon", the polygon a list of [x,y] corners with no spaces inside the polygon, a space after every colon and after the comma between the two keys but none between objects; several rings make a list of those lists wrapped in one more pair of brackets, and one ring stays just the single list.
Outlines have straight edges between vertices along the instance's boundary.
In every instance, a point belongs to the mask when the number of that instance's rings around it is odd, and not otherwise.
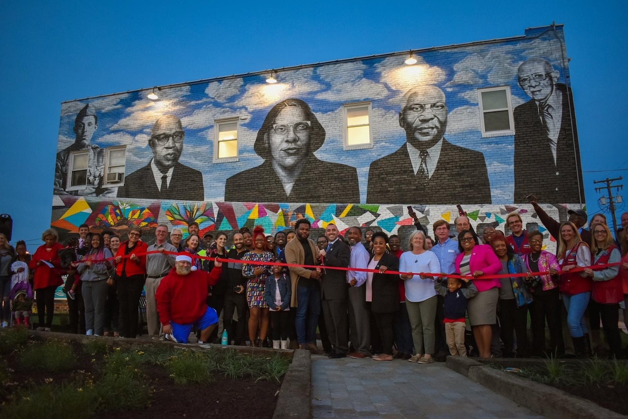
[{"label": "dark suit jacket of painted bald man, second portrait from right", "polygon": [[427,182],[416,180],[406,143],[369,168],[367,203],[490,204],[484,154],[443,139],[436,169]]}]

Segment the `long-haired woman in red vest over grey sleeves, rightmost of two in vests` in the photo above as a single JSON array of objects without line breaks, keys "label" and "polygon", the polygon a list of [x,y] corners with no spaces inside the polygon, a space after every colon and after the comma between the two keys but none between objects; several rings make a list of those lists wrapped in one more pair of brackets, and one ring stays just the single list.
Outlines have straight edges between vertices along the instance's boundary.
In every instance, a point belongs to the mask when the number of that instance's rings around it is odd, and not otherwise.
[{"label": "long-haired woman in red vest over grey sleeves, rightmost of two in vests", "polygon": [[[614,264],[621,260],[620,251],[605,224],[593,226],[591,257],[593,265]],[[598,306],[604,336],[609,343],[610,357],[619,358],[622,340],[617,323],[619,322],[619,303],[624,299],[619,265],[595,269],[595,271],[585,268],[585,274],[593,279],[592,303]]]}]

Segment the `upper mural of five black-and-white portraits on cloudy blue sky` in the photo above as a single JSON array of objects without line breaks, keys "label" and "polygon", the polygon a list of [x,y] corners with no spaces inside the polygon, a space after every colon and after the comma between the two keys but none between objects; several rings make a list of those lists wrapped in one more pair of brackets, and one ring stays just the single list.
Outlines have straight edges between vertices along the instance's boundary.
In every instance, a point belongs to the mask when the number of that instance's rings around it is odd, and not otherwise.
[{"label": "upper mural of five black-and-white portraits on cloudy blue sky", "polygon": [[414,65],[370,57],[279,71],[276,84],[250,74],[163,87],[155,101],[144,91],[63,103],[55,196],[214,211],[222,201],[503,206],[528,194],[583,203],[563,42],[561,26],[536,28],[415,52]]}]

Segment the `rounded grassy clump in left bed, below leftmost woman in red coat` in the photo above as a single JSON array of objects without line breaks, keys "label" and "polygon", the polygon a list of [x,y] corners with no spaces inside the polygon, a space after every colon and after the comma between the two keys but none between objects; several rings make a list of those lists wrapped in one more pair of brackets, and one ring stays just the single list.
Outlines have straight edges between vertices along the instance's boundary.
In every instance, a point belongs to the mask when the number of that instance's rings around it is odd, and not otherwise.
[{"label": "rounded grassy clump in left bed, below leftmost woman in red coat", "polygon": [[28,369],[39,371],[68,371],[76,364],[72,347],[65,342],[50,340],[35,342],[19,355],[19,362]]}]

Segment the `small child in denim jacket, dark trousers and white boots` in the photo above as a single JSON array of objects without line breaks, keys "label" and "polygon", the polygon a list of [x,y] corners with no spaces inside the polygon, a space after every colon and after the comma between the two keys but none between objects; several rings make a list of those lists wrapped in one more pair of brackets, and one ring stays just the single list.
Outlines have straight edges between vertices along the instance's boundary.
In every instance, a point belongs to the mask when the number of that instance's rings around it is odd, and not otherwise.
[{"label": "small child in denim jacket, dark trousers and white boots", "polygon": [[273,266],[273,275],[266,278],[264,292],[273,327],[273,349],[279,349],[280,344],[281,349],[288,349],[288,311],[291,296],[290,278],[283,272],[283,266]]}]

